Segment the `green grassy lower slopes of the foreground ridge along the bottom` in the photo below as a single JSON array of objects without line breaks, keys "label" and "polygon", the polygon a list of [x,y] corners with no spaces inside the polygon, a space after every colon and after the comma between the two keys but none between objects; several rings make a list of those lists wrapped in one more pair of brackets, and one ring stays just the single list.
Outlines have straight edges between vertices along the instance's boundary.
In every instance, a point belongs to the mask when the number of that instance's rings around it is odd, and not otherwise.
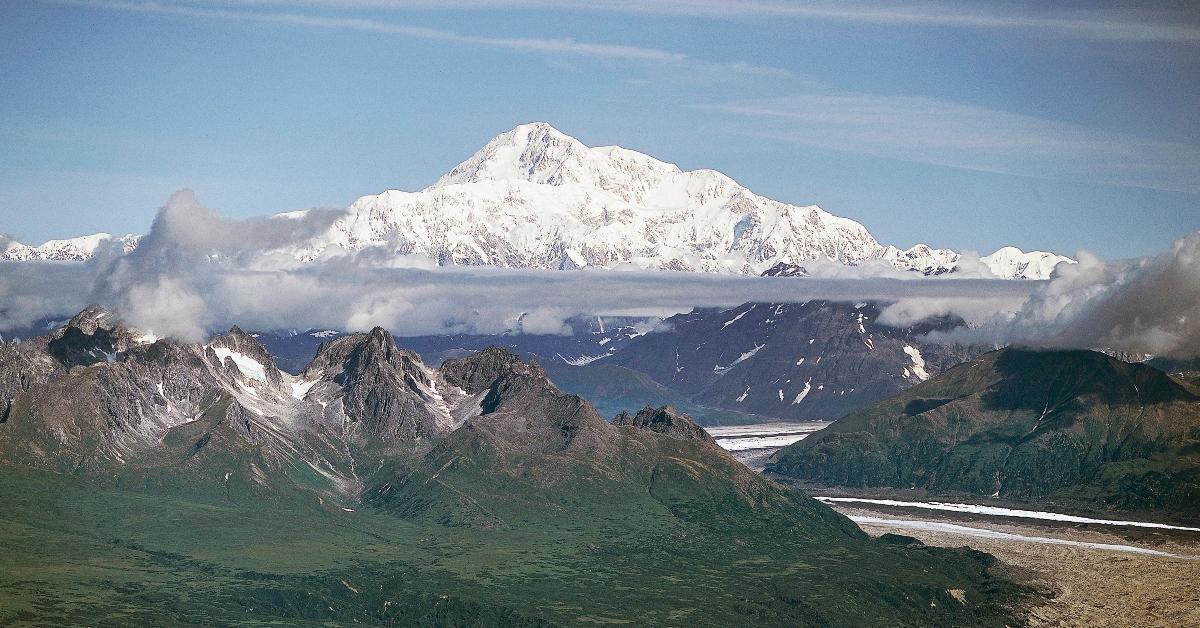
[{"label": "green grassy lower slopes of the foreground ridge along the bottom", "polygon": [[[744,526],[736,518],[746,513],[697,500],[704,496],[694,492],[700,488],[676,483],[686,478],[684,462],[659,469],[655,492],[668,506],[635,500],[632,489],[610,496],[607,508],[590,509],[504,496],[509,508],[488,503],[504,525],[480,527],[319,504],[148,496],[10,468],[0,479],[0,623],[1009,620],[998,604],[1018,591],[991,576],[982,555],[883,545],[852,530],[846,534],[853,543],[816,543],[786,520]],[[786,494],[778,498],[788,507]],[[710,522],[691,524],[704,519]],[[950,588],[966,591],[968,603],[958,603]]]}]

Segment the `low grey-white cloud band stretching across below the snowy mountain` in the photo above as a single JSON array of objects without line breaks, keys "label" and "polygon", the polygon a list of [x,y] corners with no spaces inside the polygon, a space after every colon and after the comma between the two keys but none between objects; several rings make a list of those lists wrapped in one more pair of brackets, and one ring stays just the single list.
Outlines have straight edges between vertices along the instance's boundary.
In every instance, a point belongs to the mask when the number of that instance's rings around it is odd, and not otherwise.
[{"label": "low grey-white cloud band stretching across below the snowy mountain", "polygon": [[[1109,264],[1086,253],[1049,282],[922,277],[874,267],[816,276],[665,271],[390,268],[371,253],[298,263],[264,250],[311,238],[336,211],[233,221],[179,192],[136,251],[85,264],[0,264],[0,330],[98,303],[128,324],[184,340],[254,329],[384,325],[404,335],[566,333],[580,315],[665,316],[692,307],[814,299],[890,303],[881,322],[964,317],[953,341],[1200,353],[1200,232],[1163,255]],[[517,321],[520,319],[520,325]]]}]

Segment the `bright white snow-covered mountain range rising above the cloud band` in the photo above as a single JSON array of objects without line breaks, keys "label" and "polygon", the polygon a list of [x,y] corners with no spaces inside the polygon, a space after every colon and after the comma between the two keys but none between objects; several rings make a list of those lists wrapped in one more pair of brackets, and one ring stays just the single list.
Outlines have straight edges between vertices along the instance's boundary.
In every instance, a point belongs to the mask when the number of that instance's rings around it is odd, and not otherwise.
[{"label": "bright white snow-covered mountain range rising above the cloud band", "polygon": [[[0,259],[80,261],[110,239],[36,247],[10,241],[0,245]],[[137,240],[121,243],[132,249]],[[439,265],[744,275],[815,261],[942,274],[961,270],[964,261],[948,249],[886,246],[820,207],[772,201],[716,171],[682,171],[619,146],[589,148],[545,122],[502,133],[425,190],[365,196],[324,232],[263,252],[308,262],[365,250]],[[1004,247],[982,262],[1003,279],[1046,279],[1070,259]]]}]

